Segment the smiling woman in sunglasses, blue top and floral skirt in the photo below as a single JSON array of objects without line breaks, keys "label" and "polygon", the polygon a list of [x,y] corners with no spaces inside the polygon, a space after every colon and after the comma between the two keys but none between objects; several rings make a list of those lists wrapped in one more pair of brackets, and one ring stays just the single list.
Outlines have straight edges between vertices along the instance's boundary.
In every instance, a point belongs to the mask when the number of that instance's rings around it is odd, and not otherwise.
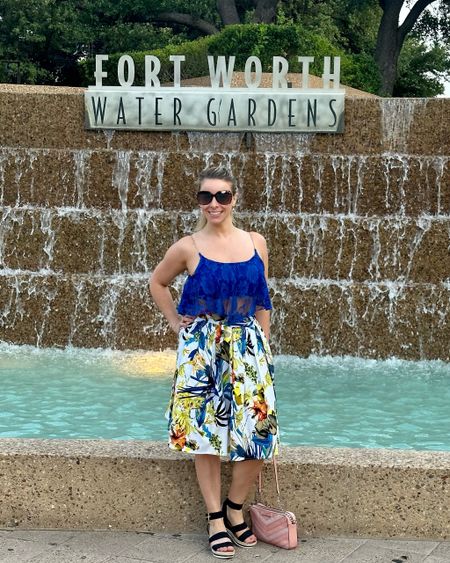
[{"label": "smiling woman in sunglasses, blue top and floral skirt", "polygon": [[[223,559],[234,556],[230,538],[240,547],[256,545],[242,505],[278,445],[266,241],[233,224],[234,187],[225,168],[200,174],[198,230],[169,248],[150,283],[179,340],[169,446],[196,454],[211,551]],[[168,286],[184,271],[189,275],[177,310]],[[223,505],[220,456],[236,462]]]}]

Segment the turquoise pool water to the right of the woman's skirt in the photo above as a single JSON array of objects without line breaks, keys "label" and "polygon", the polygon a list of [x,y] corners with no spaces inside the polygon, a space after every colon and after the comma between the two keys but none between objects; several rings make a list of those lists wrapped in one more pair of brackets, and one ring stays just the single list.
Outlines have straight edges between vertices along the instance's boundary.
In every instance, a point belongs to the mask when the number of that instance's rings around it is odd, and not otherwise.
[{"label": "turquoise pool water to the right of the woman's skirt", "polygon": [[281,356],[277,368],[286,444],[450,450],[450,364]]}]

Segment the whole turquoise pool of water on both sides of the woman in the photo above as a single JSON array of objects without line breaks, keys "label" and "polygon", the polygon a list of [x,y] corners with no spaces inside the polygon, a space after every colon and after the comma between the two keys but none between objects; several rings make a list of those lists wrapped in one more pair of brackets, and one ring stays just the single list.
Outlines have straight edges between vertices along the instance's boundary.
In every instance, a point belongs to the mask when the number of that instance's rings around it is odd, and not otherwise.
[{"label": "whole turquoise pool of water on both sides of the woman", "polygon": [[[0,345],[0,437],[166,440],[173,353]],[[282,443],[450,450],[450,364],[278,356]]]}]

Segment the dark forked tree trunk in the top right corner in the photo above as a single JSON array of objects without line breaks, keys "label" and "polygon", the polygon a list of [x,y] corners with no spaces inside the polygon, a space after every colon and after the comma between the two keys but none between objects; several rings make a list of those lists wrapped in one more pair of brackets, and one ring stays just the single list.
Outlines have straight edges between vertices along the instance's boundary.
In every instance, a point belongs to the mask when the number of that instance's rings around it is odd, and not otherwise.
[{"label": "dark forked tree trunk in the top right corner", "polygon": [[381,75],[381,95],[392,96],[397,79],[398,60],[405,39],[420,16],[433,3],[439,3],[439,8],[448,14],[449,0],[417,0],[403,23],[399,25],[400,11],[408,2],[379,0],[383,15],[378,29],[375,59]]}]

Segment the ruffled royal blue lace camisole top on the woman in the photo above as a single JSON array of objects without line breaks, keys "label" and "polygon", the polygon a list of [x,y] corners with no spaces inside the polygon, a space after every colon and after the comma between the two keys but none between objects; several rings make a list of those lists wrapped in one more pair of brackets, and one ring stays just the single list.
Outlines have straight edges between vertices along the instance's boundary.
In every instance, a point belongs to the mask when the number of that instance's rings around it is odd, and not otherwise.
[{"label": "ruffled royal blue lace camisole top on the woman", "polygon": [[244,262],[216,262],[199,252],[195,272],[183,286],[178,312],[181,315],[217,315],[240,323],[260,309],[272,309],[258,252]]}]

